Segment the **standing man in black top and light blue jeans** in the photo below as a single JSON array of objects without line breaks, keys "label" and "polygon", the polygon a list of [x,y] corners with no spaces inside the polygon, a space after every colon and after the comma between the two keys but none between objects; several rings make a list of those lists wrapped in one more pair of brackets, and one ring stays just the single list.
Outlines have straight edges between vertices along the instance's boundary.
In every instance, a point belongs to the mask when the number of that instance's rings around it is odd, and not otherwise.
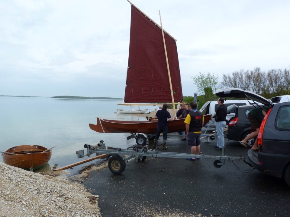
[{"label": "standing man in black top and light blue jeans", "polygon": [[226,127],[227,106],[224,105],[224,99],[218,99],[218,109],[215,112],[215,127],[218,135],[217,146],[214,150],[222,150],[224,148],[224,128]]}]

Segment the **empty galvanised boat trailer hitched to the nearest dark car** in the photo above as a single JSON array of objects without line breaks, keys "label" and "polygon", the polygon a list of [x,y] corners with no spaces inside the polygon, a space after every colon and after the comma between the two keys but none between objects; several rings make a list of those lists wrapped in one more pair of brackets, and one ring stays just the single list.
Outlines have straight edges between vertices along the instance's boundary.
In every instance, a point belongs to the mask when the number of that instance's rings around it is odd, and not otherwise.
[{"label": "empty galvanised boat trailer hitched to the nearest dark car", "polygon": [[225,156],[224,149],[222,150],[221,156],[210,156],[210,155],[194,155],[186,153],[174,153],[174,152],[159,152],[158,147],[149,149],[148,144],[146,146],[135,145],[128,149],[106,149],[106,145],[103,140],[100,140],[98,145],[92,146],[85,144],[84,148],[87,149],[87,153],[84,154],[84,150],[76,152],[78,158],[85,156],[90,157],[92,154],[107,154],[109,170],[114,174],[121,174],[126,168],[126,162],[130,161],[144,161],[147,157],[151,159],[157,157],[165,158],[195,158],[195,159],[216,159],[214,161],[214,167],[220,168],[225,164],[225,160],[244,160],[242,156]]}]

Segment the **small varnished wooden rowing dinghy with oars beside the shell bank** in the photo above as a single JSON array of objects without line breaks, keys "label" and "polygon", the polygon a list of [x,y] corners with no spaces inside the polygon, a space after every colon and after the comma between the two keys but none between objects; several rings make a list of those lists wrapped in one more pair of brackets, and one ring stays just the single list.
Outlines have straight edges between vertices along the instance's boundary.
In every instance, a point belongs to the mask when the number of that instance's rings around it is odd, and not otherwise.
[{"label": "small varnished wooden rowing dinghy with oars beside the shell bank", "polygon": [[36,170],[45,165],[51,157],[51,149],[39,145],[14,146],[2,152],[4,163],[25,170]]}]

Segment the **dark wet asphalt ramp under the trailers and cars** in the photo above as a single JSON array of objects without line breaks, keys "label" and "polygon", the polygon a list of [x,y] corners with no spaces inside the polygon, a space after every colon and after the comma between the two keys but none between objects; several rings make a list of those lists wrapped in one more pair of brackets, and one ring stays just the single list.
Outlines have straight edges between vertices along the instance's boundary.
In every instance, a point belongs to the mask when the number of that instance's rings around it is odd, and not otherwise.
[{"label": "dark wet asphalt ramp under the trailers and cars", "polygon": [[[204,133],[204,132],[203,132]],[[217,138],[205,142],[204,155],[221,156],[214,150]],[[161,145],[162,137],[157,145]],[[225,139],[225,155],[246,157],[248,149]],[[180,137],[167,139],[164,152],[190,153]],[[188,161],[147,158],[126,163],[120,175],[108,168],[92,170],[82,184],[99,195],[103,217],[113,216],[290,216],[289,187],[284,180],[254,170],[243,160]],[[248,160],[247,160],[248,161]]]}]

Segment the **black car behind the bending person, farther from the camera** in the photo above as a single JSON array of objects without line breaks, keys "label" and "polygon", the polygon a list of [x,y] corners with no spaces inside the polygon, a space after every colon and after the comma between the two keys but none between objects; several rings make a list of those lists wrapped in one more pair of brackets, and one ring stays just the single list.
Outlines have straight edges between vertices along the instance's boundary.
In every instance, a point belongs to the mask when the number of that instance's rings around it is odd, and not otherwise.
[{"label": "black car behind the bending person, farther from the camera", "polygon": [[[241,141],[252,132],[248,114],[257,106],[263,106],[263,104],[241,106],[234,104],[227,107],[228,113],[234,113],[234,116],[229,120],[227,131],[225,132],[227,139]],[[252,146],[253,140],[248,140],[247,147],[251,148]]]}]

